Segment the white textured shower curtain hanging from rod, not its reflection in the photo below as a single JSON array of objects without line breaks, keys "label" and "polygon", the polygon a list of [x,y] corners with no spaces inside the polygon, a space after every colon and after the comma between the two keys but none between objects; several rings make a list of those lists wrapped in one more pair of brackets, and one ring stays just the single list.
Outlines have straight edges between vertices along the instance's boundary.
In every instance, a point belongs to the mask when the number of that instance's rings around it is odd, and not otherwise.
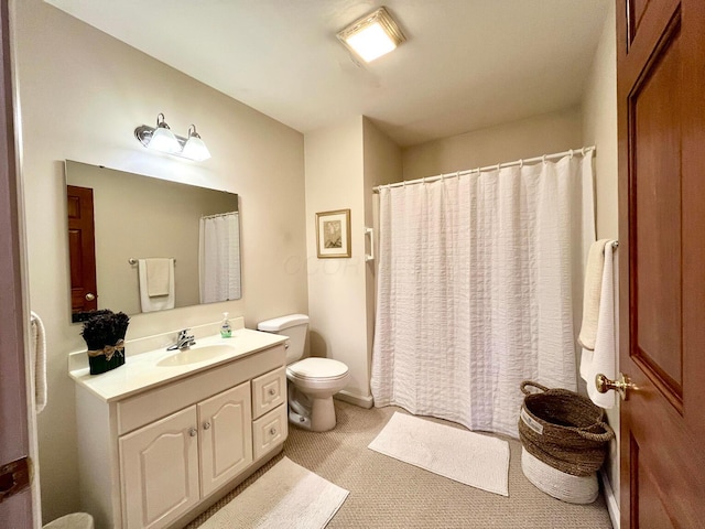
[{"label": "white textured shower curtain hanging from rod, not its reflection", "polygon": [[523,379],[576,388],[592,151],[380,190],[375,404],[518,436]]}]

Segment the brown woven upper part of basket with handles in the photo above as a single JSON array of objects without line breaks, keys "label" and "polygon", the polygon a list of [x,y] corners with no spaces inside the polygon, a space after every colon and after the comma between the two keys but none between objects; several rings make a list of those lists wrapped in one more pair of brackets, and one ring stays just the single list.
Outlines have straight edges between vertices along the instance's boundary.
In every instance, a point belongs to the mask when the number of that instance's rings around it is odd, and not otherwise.
[{"label": "brown woven upper part of basket with handles", "polygon": [[[541,392],[531,392],[532,386]],[[561,472],[589,476],[605,461],[614,430],[605,411],[567,389],[521,382],[524,401],[519,414],[519,439],[527,452]]]}]

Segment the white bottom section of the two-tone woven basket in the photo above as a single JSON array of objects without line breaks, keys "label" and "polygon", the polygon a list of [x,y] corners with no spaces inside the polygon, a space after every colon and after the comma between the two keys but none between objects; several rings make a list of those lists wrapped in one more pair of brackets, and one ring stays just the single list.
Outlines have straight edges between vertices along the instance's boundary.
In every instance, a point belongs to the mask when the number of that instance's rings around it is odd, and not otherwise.
[{"label": "white bottom section of the two-tone woven basket", "polygon": [[597,499],[597,474],[574,476],[553,468],[521,447],[521,469],[539,490],[568,504],[592,504]]}]

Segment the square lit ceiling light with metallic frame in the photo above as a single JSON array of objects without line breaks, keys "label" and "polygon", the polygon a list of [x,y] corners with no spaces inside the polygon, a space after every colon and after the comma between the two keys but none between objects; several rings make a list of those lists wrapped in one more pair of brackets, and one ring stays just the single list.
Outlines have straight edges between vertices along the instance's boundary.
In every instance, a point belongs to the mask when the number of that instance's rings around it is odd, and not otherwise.
[{"label": "square lit ceiling light with metallic frame", "polygon": [[384,8],[352,22],[337,36],[366,63],[391,52],[406,40]]}]

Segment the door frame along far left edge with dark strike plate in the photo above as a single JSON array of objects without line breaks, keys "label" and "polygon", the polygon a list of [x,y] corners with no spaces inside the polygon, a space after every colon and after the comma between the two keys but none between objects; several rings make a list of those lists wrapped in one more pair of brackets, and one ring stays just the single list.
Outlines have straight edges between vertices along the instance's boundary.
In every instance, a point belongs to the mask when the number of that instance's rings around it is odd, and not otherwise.
[{"label": "door frame along far left edge with dark strike plate", "polygon": [[[18,168],[12,102],[12,53],[8,1],[0,1],[0,467],[30,461],[36,467],[33,447],[36,421],[26,392],[24,326],[29,307],[23,303]],[[18,463],[19,464],[19,463]],[[14,465],[13,465],[14,467]],[[39,527],[39,474],[0,473],[0,526]]]}]

